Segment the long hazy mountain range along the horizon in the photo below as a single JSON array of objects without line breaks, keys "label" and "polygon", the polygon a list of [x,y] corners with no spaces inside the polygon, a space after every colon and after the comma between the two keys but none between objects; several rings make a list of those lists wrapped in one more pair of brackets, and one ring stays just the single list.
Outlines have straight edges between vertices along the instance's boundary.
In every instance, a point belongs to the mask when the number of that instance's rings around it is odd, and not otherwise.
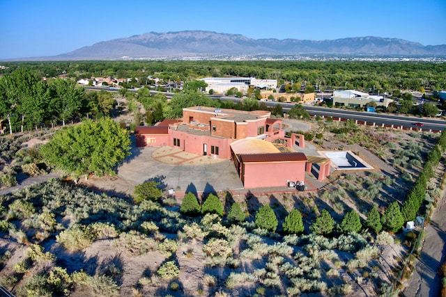
[{"label": "long hazy mountain range along the horizon", "polygon": [[67,54],[61,60],[338,54],[372,56],[446,56],[446,45],[424,46],[398,38],[357,37],[336,40],[252,39],[212,31],[144,33],[102,41]]}]

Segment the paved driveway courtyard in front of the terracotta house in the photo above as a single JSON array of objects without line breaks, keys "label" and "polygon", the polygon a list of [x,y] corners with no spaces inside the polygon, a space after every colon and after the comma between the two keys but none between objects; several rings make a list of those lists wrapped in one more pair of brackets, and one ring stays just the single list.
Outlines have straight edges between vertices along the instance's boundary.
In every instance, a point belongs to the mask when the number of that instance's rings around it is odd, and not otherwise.
[{"label": "paved driveway courtyard in front of the terracotta house", "polygon": [[159,147],[134,147],[132,156],[118,168],[118,177],[130,184],[142,184],[147,179],[162,182],[166,189],[210,192],[243,188],[231,160],[220,163],[187,166],[169,165],[152,158]]}]

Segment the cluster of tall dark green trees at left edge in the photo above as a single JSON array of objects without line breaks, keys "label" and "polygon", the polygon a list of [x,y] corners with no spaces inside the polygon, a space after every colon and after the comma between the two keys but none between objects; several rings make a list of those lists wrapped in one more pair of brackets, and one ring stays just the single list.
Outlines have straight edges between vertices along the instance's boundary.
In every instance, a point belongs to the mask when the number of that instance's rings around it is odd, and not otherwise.
[{"label": "cluster of tall dark green trees at left edge", "polygon": [[[22,68],[0,78],[0,121],[6,121],[10,134],[108,115],[114,106],[112,94],[85,92],[72,79],[42,79]],[[0,122],[0,129],[4,125]]]}]

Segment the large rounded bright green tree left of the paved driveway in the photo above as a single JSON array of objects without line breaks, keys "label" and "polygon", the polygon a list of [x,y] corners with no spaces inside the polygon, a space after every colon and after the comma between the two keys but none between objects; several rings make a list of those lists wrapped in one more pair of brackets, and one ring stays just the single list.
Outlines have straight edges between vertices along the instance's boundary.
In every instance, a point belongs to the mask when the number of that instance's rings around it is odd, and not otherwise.
[{"label": "large rounded bright green tree left of the paved driveway", "polygon": [[40,152],[49,165],[67,173],[114,175],[114,167],[130,155],[130,136],[110,118],[86,120],[57,131]]}]

